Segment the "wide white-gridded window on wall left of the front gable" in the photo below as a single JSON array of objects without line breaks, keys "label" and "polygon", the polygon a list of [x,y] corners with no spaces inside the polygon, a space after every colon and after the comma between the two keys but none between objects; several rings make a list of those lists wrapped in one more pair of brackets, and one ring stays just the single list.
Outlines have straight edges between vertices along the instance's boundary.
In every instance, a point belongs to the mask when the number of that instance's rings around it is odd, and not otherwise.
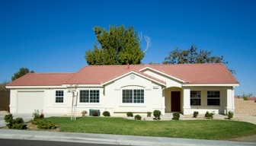
[{"label": "wide white-gridded window on wall left of the front gable", "polygon": [[80,90],[80,103],[100,103],[100,91]]}]

